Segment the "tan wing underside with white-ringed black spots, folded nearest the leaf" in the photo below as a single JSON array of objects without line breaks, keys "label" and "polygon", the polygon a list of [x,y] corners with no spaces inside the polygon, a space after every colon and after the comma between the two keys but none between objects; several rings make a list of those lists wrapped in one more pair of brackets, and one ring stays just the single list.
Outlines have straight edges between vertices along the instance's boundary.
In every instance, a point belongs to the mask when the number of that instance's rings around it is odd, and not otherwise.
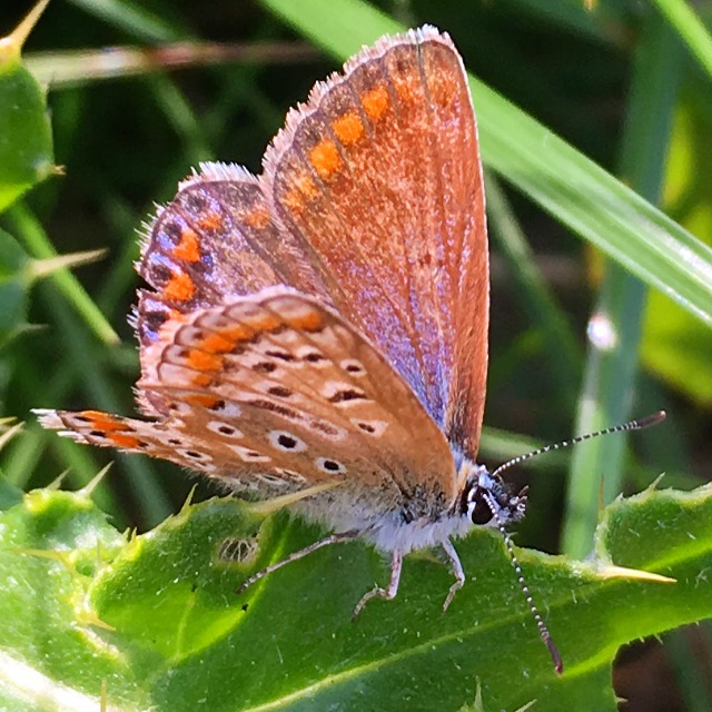
[{"label": "tan wing underside with white-ringed black spots, folded nearest the leaf", "polygon": [[336,477],[376,493],[376,507],[452,504],[443,434],[386,359],[317,299],[268,288],[197,307],[147,350],[155,366],[139,387],[164,404],[157,419],[50,411],[42,424],[263,494]]}]

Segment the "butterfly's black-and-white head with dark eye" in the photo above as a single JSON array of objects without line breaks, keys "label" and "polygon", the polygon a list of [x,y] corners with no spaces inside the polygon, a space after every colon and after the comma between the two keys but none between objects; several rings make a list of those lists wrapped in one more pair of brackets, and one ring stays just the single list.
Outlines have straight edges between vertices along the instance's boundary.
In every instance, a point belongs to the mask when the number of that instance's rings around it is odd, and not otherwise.
[{"label": "butterfly's black-and-white head with dark eye", "polygon": [[478,526],[505,526],[518,522],[526,511],[526,487],[514,494],[496,473],[484,465],[464,463],[468,468],[461,496],[461,514]]}]

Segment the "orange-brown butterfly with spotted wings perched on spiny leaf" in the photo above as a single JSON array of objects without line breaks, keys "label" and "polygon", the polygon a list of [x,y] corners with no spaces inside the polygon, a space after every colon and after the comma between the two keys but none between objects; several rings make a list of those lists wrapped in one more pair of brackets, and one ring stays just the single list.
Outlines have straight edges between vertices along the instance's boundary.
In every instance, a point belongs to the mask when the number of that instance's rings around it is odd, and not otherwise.
[{"label": "orange-brown butterfly with spotted wings perched on spiny leaf", "polygon": [[[42,411],[80,443],[171,461],[390,556],[522,518],[476,464],[490,279],[462,59],[433,27],[385,37],[293,109],[253,176],[206,164],[147,230],[134,324],[142,419]],[[513,554],[507,538],[507,546]],[[534,607],[557,670],[561,656]]]}]

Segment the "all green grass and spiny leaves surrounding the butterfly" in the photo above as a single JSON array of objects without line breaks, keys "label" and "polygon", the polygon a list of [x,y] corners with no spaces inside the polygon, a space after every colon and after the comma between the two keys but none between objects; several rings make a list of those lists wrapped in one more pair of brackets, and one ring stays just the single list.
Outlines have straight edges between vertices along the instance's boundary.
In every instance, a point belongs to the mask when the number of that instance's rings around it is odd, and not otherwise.
[{"label": "all green grass and spiny leaves surrounding the butterfly", "polygon": [[[8,421],[1,441],[0,706],[600,711],[615,693],[632,712],[712,706],[693,652],[709,660],[706,624],[666,634],[664,649],[629,649],[611,684],[621,645],[712,609],[710,7],[591,4],[75,0],[47,9],[24,63],[0,46],[0,403],[27,422],[18,433]],[[4,32],[21,20],[8,8],[0,18]],[[354,603],[387,578],[362,544],[238,597],[246,571],[318,532],[211,498],[204,483],[192,501],[205,502],[184,506],[196,483],[175,467],[76,446],[30,414],[134,413],[126,315],[152,202],[202,160],[259,171],[315,80],[423,22],[451,32],[472,72],[487,169],[483,462],[669,412],[627,441],[513,473],[532,485],[516,541],[561,678],[495,534],[459,545],[468,580],[445,616],[449,574],[419,556],[395,602],[352,623]],[[226,561],[226,540],[255,558]],[[636,683],[641,668],[661,690],[674,676],[674,699]]]}]

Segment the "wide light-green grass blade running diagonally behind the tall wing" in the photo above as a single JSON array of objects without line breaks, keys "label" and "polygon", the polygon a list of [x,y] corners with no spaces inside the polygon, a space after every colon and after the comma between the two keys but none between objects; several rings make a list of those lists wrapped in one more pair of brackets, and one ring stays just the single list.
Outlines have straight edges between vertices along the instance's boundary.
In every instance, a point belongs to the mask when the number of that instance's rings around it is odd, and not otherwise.
[{"label": "wide light-green grass blade running diagonally behind the tall wing", "polygon": [[[261,0],[342,59],[403,30],[358,0]],[[674,220],[471,78],[485,164],[535,202],[705,324],[712,325],[712,249]]]}]

